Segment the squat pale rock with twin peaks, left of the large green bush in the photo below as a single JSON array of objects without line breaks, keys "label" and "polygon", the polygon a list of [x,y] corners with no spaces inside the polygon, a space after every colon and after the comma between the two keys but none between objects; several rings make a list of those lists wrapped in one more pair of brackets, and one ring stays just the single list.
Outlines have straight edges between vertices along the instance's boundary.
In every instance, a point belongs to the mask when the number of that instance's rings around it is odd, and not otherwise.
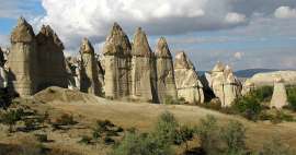
[{"label": "squat pale rock with twin peaks, left of the large green bush", "polygon": [[232,102],[240,96],[241,83],[234,75],[229,65],[218,62],[212,70],[209,83],[215,96],[219,98],[221,107],[231,106]]}]

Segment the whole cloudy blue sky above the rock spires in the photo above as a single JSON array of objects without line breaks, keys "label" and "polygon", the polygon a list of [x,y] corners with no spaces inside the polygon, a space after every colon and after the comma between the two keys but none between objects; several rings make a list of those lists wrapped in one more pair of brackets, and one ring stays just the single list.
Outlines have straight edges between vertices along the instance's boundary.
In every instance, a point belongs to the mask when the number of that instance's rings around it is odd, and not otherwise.
[{"label": "whole cloudy blue sky above the rock spires", "polygon": [[[296,69],[295,0],[1,0],[0,46],[9,47],[9,34],[19,16],[35,33],[49,24],[77,55],[89,37],[96,52],[118,22],[133,40],[137,26],[151,48],[164,36],[173,55],[184,50],[197,70],[210,70],[217,61],[235,70],[250,68]],[[213,11],[215,10],[215,11]]]}]

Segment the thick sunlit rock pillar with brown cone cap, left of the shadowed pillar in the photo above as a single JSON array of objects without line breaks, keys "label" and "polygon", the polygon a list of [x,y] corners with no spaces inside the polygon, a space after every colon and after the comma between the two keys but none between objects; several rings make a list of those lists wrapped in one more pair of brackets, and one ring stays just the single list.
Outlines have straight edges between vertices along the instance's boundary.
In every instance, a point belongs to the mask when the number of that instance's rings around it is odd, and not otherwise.
[{"label": "thick sunlit rock pillar with brown cone cap, left of the shadowed pillar", "polygon": [[32,26],[19,19],[11,34],[11,52],[8,65],[10,68],[10,90],[20,96],[36,92],[36,39]]}]

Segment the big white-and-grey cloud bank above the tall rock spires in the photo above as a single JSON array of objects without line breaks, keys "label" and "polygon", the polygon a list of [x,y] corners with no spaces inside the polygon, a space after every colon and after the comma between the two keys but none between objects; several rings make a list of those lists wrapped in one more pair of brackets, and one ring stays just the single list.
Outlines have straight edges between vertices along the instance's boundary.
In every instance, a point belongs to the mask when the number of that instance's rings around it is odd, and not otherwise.
[{"label": "big white-and-grey cloud bank above the tall rock spires", "polygon": [[[149,35],[184,34],[240,25],[246,16],[232,12],[231,0],[42,0],[45,16],[66,48],[76,48],[82,37],[103,41],[114,22],[130,35],[143,26]],[[215,10],[215,11],[214,11]],[[225,16],[227,21],[225,21]]]}]

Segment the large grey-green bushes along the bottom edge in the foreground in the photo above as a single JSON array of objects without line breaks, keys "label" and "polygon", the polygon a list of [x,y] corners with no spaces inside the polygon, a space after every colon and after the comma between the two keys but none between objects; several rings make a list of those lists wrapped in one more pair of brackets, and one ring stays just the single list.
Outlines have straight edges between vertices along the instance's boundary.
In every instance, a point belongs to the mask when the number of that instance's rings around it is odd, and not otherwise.
[{"label": "large grey-green bushes along the bottom edge in the foreground", "polygon": [[[200,140],[198,155],[292,155],[289,147],[280,140],[267,141],[258,152],[246,146],[246,128],[238,121],[219,124],[213,116],[202,119],[194,128],[181,126],[174,116],[164,112],[159,117],[155,130],[148,133],[126,132],[123,141],[114,146],[111,155],[173,155],[173,146]],[[186,145],[187,151],[187,145]],[[185,153],[186,154],[186,153]]]}]

